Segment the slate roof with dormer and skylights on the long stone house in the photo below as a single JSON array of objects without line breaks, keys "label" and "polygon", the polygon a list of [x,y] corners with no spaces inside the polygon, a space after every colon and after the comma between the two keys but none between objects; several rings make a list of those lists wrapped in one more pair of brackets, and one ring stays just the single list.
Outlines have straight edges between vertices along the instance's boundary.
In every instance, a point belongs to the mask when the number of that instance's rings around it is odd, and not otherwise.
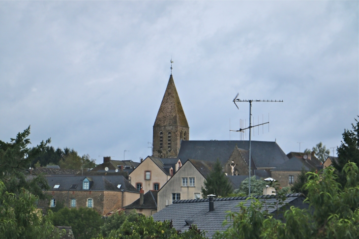
[{"label": "slate roof with dormer and skylights on the long stone house", "polygon": [[[121,191],[138,192],[131,183],[123,176],[46,176],[50,190],[58,191],[82,191],[82,181],[88,178],[90,183],[89,191]],[[58,189],[54,189],[55,184],[60,184]],[[70,188],[72,184],[77,184],[76,188]],[[117,185],[121,184],[118,188]]]}]

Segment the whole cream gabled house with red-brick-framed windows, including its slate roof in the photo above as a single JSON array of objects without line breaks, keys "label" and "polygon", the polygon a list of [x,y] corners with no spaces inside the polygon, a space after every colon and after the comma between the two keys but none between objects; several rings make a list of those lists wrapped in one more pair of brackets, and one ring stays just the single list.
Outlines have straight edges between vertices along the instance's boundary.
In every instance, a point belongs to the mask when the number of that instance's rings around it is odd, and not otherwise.
[{"label": "whole cream gabled house with red-brick-framed windows, including its slate roof", "polygon": [[131,184],[140,191],[158,191],[182,163],[179,158],[157,158],[148,156],[129,175]]}]

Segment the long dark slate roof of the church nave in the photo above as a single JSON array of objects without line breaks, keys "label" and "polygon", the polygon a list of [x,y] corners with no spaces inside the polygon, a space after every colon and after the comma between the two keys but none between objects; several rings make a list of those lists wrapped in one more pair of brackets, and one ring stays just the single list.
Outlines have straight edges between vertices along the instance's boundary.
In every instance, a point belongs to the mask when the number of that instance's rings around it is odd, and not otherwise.
[{"label": "long dark slate roof of the church nave", "polygon": [[[210,162],[215,162],[218,158],[224,163],[228,161],[236,146],[239,149],[249,149],[249,142],[182,140],[178,157],[182,164],[189,158]],[[276,142],[252,141],[251,147],[251,153],[258,168],[276,167],[288,160],[287,155]]]}]

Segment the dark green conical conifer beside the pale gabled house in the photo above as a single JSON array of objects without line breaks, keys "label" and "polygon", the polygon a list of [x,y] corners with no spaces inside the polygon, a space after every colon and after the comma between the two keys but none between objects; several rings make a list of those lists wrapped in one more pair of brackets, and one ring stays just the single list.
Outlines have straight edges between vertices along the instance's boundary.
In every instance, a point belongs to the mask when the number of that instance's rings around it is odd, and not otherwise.
[{"label": "dark green conical conifer beside the pale gabled house", "polygon": [[222,166],[218,159],[204,184],[205,187],[202,187],[201,190],[203,198],[207,198],[207,195],[209,194],[214,194],[217,197],[224,197],[233,192],[232,184],[222,171]]}]

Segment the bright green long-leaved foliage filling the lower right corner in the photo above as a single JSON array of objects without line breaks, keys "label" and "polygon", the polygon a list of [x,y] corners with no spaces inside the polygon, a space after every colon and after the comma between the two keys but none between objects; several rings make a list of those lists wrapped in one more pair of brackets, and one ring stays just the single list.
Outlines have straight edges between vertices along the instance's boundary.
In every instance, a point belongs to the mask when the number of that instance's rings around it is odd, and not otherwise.
[{"label": "bright green long-leaved foliage filling the lower right corner", "polygon": [[[332,239],[359,238],[359,170],[355,163],[343,168],[347,183],[336,181],[334,168],[307,173],[307,202],[310,210],[291,207],[283,212],[284,222],[269,214],[265,204],[252,200],[250,207],[239,205],[240,212],[229,213],[227,230],[216,239]],[[283,207],[284,209],[285,207]]]}]

